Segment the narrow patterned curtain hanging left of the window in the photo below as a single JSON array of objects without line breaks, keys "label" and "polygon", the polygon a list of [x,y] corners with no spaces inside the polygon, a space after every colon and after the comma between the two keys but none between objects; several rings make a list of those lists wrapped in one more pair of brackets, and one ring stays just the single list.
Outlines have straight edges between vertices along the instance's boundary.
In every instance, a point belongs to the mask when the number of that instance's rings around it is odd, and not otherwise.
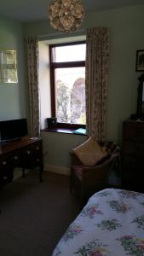
[{"label": "narrow patterned curtain hanging left of the window", "polygon": [[38,137],[39,122],[39,92],[38,92],[38,42],[37,39],[26,39],[26,55],[28,67],[28,85],[30,100],[31,136]]}]

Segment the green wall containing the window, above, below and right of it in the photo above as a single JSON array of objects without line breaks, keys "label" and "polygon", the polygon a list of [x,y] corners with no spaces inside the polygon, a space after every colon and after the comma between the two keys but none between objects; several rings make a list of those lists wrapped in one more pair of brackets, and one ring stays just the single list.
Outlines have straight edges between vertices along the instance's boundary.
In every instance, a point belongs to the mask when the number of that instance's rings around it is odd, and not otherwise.
[{"label": "green wall containing the window, above, below and right of it", "polygon": [[[109,26],[110,31],[110,69],[107,106],[107,139],[122,143],[122,124],[124,119],[136,111],[137,78],[135,73],[136,49],[144,48],[144,5],[123,9],[99,11],[86,15],[82,28]],[[40,40],[60,35],[49,27],[49,21],[25,24],[26,36],[37,36]],[[84,32],[79,32],[82,34]],[[50,34],[50,35],[49,35]],[[78,35],[78,32],[77,32]],[[44,150],[49,150],[44,162],[50,165],[69,166],[69,149],[86,137],[49,134],[42,132]],[[51,150],[51,151],[50,151]],[[59,154],[60,153],[60,154]]]}]

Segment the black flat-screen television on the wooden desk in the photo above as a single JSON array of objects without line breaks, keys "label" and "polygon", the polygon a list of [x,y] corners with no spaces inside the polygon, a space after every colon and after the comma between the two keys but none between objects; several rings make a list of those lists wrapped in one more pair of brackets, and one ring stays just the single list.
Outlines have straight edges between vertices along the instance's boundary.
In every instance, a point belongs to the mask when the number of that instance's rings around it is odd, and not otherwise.
[{"label": "black flat-screen television on the wooden desk", "polygon": [[10,142],[27,136],[26,119],[11,119],[0,121],[0,140]]}]

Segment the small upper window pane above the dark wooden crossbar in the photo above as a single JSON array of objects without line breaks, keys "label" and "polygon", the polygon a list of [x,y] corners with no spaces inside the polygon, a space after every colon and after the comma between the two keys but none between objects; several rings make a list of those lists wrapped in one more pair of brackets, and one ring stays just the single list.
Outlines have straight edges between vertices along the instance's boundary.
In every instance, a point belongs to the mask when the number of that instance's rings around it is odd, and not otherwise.
[{"label": "small upper window pane above the dark wooden crossbar", "polygon": [[55,62],[85,61],[86,44],[55,47],[54,52]]}]

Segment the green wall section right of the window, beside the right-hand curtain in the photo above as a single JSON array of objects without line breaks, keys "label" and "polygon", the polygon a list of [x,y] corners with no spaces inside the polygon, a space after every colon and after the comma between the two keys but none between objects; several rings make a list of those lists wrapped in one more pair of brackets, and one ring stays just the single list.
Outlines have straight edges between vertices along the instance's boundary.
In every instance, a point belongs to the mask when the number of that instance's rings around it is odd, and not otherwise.
[{"label": "green wall section right of the window, beside the right-hand curtain", "polygon": [[[144,47],[144,5],[88,16],[87,26],[109,26],[110,69],[107,138],[122,142],[122,123],[136,111],[136,49]],[[95,20],[95,21],[94,21]]]}]

